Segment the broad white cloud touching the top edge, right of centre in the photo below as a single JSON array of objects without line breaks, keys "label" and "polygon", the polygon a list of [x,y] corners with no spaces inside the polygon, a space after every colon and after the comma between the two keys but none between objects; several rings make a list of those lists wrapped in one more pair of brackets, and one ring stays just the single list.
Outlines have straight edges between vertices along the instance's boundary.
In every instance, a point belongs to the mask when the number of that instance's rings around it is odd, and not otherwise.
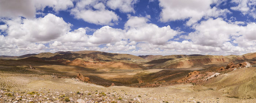
[{"label": "broad white cloud touching the top edge, right of centre", "polygon": [[211,8],[217,0],[159,0],[162,7],[161,22],[189,19],[188,26],[196,23],[203,17],[218,17],[229,13],[228,9]]}]

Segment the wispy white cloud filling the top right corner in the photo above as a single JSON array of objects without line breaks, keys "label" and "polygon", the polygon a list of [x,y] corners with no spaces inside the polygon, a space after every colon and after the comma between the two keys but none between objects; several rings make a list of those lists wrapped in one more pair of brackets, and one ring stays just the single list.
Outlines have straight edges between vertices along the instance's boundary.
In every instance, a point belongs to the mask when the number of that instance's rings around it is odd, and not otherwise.
[{"label": "wispy white cloud filling the top right corner", "polygon": [[250,15],[256,19],[256,0],[232,0],[231,3],[237,4],[234,7],[230,7],[235,11],[240,11],[243,15]]}]

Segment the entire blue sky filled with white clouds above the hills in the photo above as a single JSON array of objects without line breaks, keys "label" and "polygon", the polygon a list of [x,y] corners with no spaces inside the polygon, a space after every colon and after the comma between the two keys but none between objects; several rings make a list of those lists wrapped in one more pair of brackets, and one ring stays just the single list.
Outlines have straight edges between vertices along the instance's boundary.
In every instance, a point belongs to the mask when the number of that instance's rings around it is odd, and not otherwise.
[{"label": "entire blue sky filled with white clouds above the hills", "polygon": [[256,0],[0,0],[0,55],[256,52]]}]

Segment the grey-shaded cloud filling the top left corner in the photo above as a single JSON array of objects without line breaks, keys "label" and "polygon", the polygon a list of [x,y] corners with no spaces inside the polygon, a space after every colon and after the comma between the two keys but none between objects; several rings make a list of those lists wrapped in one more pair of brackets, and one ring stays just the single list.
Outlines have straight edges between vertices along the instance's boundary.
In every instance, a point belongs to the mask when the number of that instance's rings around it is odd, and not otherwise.
[{"label": "grey-shaded cloud filling the top left corner", "polygon": [[55,12],[73,7],[72,0],[1,0],[0,16],[15,18],[35,18],[37,10],[52,7]]}]

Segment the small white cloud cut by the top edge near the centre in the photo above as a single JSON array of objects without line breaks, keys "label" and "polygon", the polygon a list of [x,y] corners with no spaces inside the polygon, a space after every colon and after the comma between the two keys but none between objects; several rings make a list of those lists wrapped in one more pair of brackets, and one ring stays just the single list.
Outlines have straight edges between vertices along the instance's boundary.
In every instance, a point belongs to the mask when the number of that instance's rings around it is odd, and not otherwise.
[{"label": "small white cloud cut by the top edge near the centre", "polygon": [[121,12],[133,12],[133,5],[136,4],[137,0],[109,0],[106,5],[111,9],[119,9]]}]

